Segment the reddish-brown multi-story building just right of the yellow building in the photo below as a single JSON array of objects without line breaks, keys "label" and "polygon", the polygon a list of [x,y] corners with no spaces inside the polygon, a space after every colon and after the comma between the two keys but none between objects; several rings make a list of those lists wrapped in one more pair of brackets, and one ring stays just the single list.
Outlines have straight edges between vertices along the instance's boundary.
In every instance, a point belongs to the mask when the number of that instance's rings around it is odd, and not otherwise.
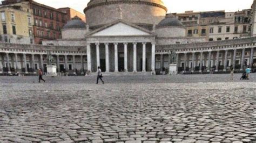
[{"label": "reddish-brown multi-story building just right of the yellow building", "polygon": [[50,6],[31,0],[5,0],[2,5],[18,5],[27,2],[33,13],[33,36],[35,44],[42,44],[44,40],[56,40],[61,38],[60,29],[66,24],[67,14]]}]

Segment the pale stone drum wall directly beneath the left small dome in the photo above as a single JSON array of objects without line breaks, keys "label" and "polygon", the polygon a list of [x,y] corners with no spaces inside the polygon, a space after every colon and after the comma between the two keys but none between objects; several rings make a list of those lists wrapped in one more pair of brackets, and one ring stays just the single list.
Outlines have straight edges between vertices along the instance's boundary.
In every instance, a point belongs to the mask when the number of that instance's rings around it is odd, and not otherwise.
[{"label": "pale stone drum wall directly beneath the left small dome", "polygon": [[82,39],[85,38],[86,29],[72,28],[62,30],[62,39]]}]

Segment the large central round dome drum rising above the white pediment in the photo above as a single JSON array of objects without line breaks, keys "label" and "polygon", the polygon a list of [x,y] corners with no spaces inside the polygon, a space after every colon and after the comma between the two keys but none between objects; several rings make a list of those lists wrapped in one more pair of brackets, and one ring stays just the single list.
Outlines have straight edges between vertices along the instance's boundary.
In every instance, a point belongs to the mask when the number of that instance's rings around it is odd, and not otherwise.
[{"label": "large central round dome drum rising above the white pediment", "polygon": [[161,0],[91,0],[84,9],[86,23],[92,28],[118,19],[153,26],[165,18],[166,12]]}]

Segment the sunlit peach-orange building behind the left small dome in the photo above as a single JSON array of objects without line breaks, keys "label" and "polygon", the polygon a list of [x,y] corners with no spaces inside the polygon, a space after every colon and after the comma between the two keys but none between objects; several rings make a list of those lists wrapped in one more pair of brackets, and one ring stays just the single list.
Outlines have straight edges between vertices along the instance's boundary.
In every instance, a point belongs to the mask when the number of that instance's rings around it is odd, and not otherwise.
[{"label": "sunlit peach-orange building behind the left small dome", "polygon": [[67,15],[66,20],[68,20],[68,21],[74,17],[79,17],[83,22],[86,22],[85,15],[79,11],[76,11],[71,8],[59,8],[58,10],[66,13],[66,15]]}]

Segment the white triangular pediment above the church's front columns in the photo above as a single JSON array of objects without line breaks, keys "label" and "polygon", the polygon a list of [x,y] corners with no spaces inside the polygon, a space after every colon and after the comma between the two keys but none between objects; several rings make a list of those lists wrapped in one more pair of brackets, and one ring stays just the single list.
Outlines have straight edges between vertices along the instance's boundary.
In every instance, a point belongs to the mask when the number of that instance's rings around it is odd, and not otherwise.
[{"label": "white triangular pediment above the church's front columns", "polygon": [[90,32],[89,36],[129,36],[129,35],[152,35],[151,31],[134,24],[118,21],[110,25],[98,28]]}]

